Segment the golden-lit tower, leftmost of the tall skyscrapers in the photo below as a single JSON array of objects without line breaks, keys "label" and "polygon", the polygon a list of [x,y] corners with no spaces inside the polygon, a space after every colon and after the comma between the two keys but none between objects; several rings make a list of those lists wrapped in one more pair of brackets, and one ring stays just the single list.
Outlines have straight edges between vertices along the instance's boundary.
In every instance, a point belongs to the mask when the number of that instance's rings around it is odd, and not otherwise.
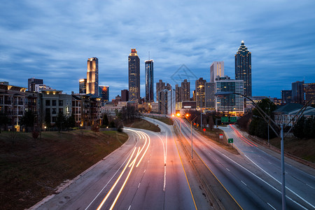
[{"label": "golden-lit tower, leftmost of the tall skyscrapers", "polygon": [[99,59],[87,59],[86,94],[99,96]]}]

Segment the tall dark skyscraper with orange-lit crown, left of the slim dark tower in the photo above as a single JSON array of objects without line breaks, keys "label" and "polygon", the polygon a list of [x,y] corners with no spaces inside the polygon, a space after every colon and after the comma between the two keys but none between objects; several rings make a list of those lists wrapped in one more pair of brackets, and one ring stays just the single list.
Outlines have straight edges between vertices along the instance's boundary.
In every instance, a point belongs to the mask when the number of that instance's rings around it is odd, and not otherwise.
[{"label": "tall dark skyscraper with orange-lit crown, left of the slim dark tower", "polygon": [[140,59],[136,49],[132,49],[128,57],[129,100],[139,102],[140,99]]}]

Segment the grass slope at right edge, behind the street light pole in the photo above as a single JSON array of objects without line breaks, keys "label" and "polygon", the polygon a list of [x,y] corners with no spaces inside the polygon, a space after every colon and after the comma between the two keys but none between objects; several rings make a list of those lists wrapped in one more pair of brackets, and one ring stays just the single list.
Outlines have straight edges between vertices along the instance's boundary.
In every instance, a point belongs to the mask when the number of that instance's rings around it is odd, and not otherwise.
[{"label": "grass slope at right edge, behind the street light pole", "polygon": [[[267,141],[267,140],[266,140]],[[276,148],[281,147],[279,138],[270,139],[269,143]],[[315,163],[315,139],[296,139],[286,137],[284,139],[284,151],[298,158]]]}]

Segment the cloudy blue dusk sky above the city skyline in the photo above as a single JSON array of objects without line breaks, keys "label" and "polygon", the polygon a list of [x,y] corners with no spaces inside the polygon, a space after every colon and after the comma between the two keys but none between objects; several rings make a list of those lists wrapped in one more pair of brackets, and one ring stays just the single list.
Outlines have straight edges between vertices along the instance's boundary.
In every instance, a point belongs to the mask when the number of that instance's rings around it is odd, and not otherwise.
[{"label": "cloudy blue dusk sky above the city skyline", "polygon": [[[224,61],[235,78],[241,41],[252,53],[253,96],[281,97],[291,83],[315,83],[315,1],[1,1],[0,81],[27,87],[27,78],[68,94],[99,59],[99,85],[110,99],[128,89],[128,55],[136,48],[141,97],[144,62],[154,83],[210,80]],[[155,86],[155,85],[154,85]],[[155,91],[155,87],[154,87]]]}]

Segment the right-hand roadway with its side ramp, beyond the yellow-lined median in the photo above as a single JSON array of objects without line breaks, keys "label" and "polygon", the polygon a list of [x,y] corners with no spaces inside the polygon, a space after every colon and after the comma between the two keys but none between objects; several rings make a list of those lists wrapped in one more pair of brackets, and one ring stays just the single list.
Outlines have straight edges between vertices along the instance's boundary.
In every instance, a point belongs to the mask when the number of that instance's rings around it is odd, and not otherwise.
[{"label": "right-hand roadway with its side ramp, beyond the yellow-lined median", "polygon": [[[181,127],[181,133],[190,144],[190,124],[181,118],[176,118],[175,122],[178,127]],[[279,160],[274,160],[276,158],[260,151],[251,141],[244,143],[244,141],[239,140],[238,138],[241,139],[241,137],[233,135],[234,130],[232,128],[230,130],[228,137],[234,137],[235,142],[240,141],[241,144],[248,144],[248,147],[251,147],[250,151],[247,147],[244,147],[243,153],[246,156],[225,153],[216,144],[212,144],[211,141],[204,139],[193,130],[193,148],[195,152],[202,158],[211,172],[216,175],[217,179],[221,181],[241,208],[281,209],[281,184],[278,177],[280,174],[278,170],[281,165]],[[238,145],[238,143],[236,144]],[[241,146],[239,147],[241,148]],[[248,156],[248,153],[251,155]],[[255,156],[255,159],[253,156]],[[256,162],[256,160],[260,161]],[[269,166],[266,167],[268,164]],[[294,175],[295,178],[292,179],[297,179],[299,183],[295,181],[296,184],[294,184],[294,181],[288,178],[290,183],[288,188],[290,190],[287,188],[287,209],[314,209],[314,176],[298,169],[294,170],[296,174]],[[279,173],[278,176],[274,177],[274,172]],[[272,176],[270,176],[271,173]],[[293,188],[293,186],[300,186],[301,183],[303,183],[303,186],[300,190]],[[301,191],[304,194],[301,195]],[[310,195],[305,195],[307,193]]]}]

